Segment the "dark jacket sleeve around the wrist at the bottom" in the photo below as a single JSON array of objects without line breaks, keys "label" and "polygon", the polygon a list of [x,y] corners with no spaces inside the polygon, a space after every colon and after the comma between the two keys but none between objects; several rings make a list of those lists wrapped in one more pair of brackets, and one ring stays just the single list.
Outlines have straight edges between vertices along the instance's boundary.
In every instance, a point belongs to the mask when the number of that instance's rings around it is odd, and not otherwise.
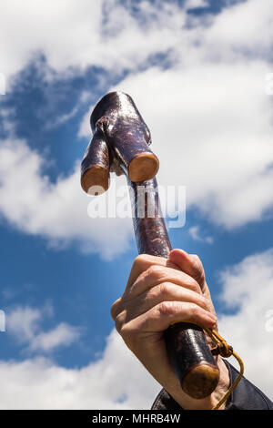
[{"label": "dark jacket sleeve around the wrist at the bottom", "polygon": [[[230,382],[233,383],[238,376],[238,371],[226,360],[224,362],[227,365]],[[152,405],[152,410],[180,412],[183,409],[166,390],[161,390]],[[263,392],[243,377],[235,390],[231,392],[225,410],[273,410],[273,403]]]}]

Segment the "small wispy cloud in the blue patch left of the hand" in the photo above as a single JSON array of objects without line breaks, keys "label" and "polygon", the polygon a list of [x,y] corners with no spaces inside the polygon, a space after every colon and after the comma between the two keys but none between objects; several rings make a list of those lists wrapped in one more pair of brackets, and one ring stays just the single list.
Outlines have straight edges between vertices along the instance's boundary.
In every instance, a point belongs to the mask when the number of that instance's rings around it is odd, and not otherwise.
[{"label": "small wispy cloud in the blue patch left of the hand", "polygon": [[48,304],[42,309],[18,306],[7,312],[7,333],[12,334],[27,352],[46,353],[60,346],[69,346],[80,337],[80,329],[60,322],[52,330],[42,331],[43,318],[52,313],[52,307]]}]

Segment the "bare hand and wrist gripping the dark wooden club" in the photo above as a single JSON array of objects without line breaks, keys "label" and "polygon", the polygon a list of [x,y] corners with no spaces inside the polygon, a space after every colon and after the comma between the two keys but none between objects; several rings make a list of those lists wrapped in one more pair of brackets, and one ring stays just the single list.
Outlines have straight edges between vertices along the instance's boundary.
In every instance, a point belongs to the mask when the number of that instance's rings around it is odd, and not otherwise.
[{"label": "bare hand and wrist gripping the dark wooden club", "polygon": [[203,265],[196,255],[172,250],[168,259],[136,257],[126,290],[113,304],[111,315],[127,347],[183,409],[211,409],[227,391],[229,376],[220,357],[217,388],[202,400],[182,391],[167,358],[164,331],[172,323],[192,321],[217,327]]}]

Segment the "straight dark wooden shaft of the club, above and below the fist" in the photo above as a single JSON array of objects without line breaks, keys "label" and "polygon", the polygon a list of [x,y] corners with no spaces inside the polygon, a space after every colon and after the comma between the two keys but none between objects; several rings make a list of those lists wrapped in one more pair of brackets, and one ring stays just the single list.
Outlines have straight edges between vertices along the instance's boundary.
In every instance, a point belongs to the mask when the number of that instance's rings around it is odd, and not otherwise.
[{"label": "straight dark wooden shaft of the club, above and below the fist", "polygon": [[[160,213],[157,179],[133,183],[127,178],[127,181],[139,254],[167,258],[171,244]],[[203,330],[179,322],[167,329],[165,339],[169,360],[183,391],[197,399],[210,395],[217,386],[219,371]]]}]

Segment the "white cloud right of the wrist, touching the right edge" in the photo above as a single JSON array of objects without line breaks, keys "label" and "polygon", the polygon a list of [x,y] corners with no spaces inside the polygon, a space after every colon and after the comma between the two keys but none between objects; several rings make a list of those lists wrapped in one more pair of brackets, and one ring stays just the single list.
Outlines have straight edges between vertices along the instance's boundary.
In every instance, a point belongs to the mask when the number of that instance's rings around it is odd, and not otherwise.
[{"label": "white cloud right of the wrist, touching the right edge", "polygon": [[[250,382],[273,399],[273,250],[255,254],[222,272],[222,300],[235,315],[221,316],[219,332],[245,362]],[[230,362],[237,367],[237,362]]]}]

